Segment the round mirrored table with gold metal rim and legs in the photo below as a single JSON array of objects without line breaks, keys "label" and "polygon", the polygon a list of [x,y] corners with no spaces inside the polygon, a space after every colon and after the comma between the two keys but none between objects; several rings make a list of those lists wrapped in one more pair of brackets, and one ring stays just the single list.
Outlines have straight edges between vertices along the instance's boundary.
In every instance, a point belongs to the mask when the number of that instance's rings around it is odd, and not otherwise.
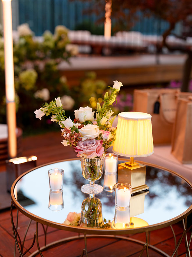
[{"label": "round mirrored table with gold metal rim and legs", "polygon": [[[127,160],[120,159],[118,162],[122,163]],[[142,162],[143,163],[143,162]],[[146,164],[146,184],[149,186],[148,191],[141,191],[131,196],[130,204],[130,216],[131,226],[130,228],[116,229],[113,226],[113,219],[115,213],[115,195],[114,191],[104,191],[95,195],[95,199],[101,202],[102,217],[105,220],[111,221],[109,228],[94,228],[86,226],[74,226],[64,224],[67,215],[70,212],[81,213],[81,206],[84,199],[88,199],[89,195],[81,192],[81,186],[85,184],[85,179],[81,173],[81,161],[80,159],[69,159],[61,162],[50,163],[44,166],[37,167],[26,173],[22,174],[15,180],[11,188],[11,217],[12,227],[15,242],[20,254],[23,247],[19,245],[19,235],[17,232],[17,226],[14,225],[12,207],[13,204],[18,211],[29,217],[31,220],[36,221],[36,233],[31,247],[33,246],[35,239],[38,245],[38,251],[30,255],[35,256],[38,252],[40,256],[43,256],[42,251],[57,243],[67,242],[72,239],[82,238],[85,239],[85,251],[87,255],[87,237],[92,235],[106,235],[115,236],[125,240],[131,240],[139,244],[143,244],[143,250],[140,253],[142,256],[143,251],[146,250],[147,256],[148,248],[153,249],[161,253],[164,256],[169,256],[165,252],[150,245],[150,231],[159,228],[171,226],[180,220],[184,223],[184,232],[182,238],[186,240],[186,253],[189,256],[189,244],[187,241],[187,216],[192,212],[192,185],[185,178],[178,174],[165,170],[162,167],[150,166]],[[48,170],[59,168],[64,170],[63,190],[59,196],[59,200],[56,202],[56,208],[51,209],[51,197],[55,201],[54,196],[51,196],[49,190],[49,178]],[[88,181],[86,181],[88,183]],[[96,183],[103,185],[104,174],[100,180]],[[92,196],[93,197],[93,196]],[[84,201],[85,202],[85,201]],[[18,212],[17,212],[18,213]],[[53,242],[49,245],[41,247],[38,243],[38,223],[41,223],[44,227],[46,238],[46,227],[51,226],[61,230],[73,231],[82,233],[77,237],[70,239],[63,239],[59,242]],[[76,224],[77,225],[77,224]],[[173,231],[173,228],[171,226]],[[125,234],[134,234],[145,232],[146,242],[141,242],[136,239],[130,239]],[[26,231],[27,233],[27,231]],[[173,231],[174,233],[174,231]],[[189,240],[190,243],[190,240]],[[175,251],[177,251],[180,243],[175,242]],[[31,249],[31,248],[30,248]],[[28,249],[29,250],[29,249]],[[84,252],[82,253],[83,256]],[[172,256],[173,256],[172,255]]]}]

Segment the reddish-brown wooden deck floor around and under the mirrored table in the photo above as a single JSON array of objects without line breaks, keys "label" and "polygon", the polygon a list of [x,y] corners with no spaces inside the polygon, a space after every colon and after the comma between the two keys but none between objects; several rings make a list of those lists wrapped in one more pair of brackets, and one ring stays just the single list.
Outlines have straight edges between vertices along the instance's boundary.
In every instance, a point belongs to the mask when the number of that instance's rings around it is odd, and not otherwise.
[{"label": "reddish-brown wooden deck floor around and under the mirrored table", "polygon": [[[63,147],[61,144],[61,136],[58,132],[50,132],[44,135],[38,136],[29,136],[23,140],[23,153],[24,155],[34,154],[38,157],[38,165],[57,161],[61,159],[73,158],[76,157],[74,151],[70,147]],[[0,167],[0,171],[5,169],[5,166]],[[14,219],[16,218],[16,209],[13,211]],[[21,213],[19,214],[19,223],[18,231],[19,235],[23,239],[25,230],[29,223],[29,218],[25,217]],[[182,235],[182,224],[177,223],[173,225],[177,240]],[[32,221],[29,232],[26,237],[25,249],[28,248],[31,244],[35,232],[35,222]],[[42,227],[40,226],[39,230],[40,235],[40,246],[43,245],[44,235]],[[61,231],[54,228],[48,228],[47,243],[59,240],[65,237],[74,236],[77,233]],[[136,234],[132,235],[131,238],[145,241],[145,234]],[[165,251],[168,254],[173,253],[174,249],[174,238],[173,233],[168,228],[163,228],[157,231],[151,232],[151,244],[157,246],[159,249]],[[81,256],[82,250],[84,248],[83,240],[76,240],[68,242],[61,246],[56,246],[49,251],[45,251],[44,257],[55,257],[55,256]],[[37,249],[36,243],[31,249],[30,253]],[[192,246],[191,246],[192,251]],[[123,256],[123,257],[136,257],[139,256],[139,251],[141,251],[141,246],[138,244],[133,244],[131,242],[120,240],[117,238],[89,238],[88,239],[88,255],[89,257],[96,256]],[[11,257],[14,252],[14,238],[10,222],[10,210],[0,212],[0,256],[1,257]],[[152,250],[149,251],[151,257],[159,257],[160,255]],[[27,253],[25,256],[29,256],[30,253]],[[17,251],[16,257],[19,256]],[[37,255],[40,256],[40,255]],[[142,256],[146,256],[146,253],[143,253]],[[178,256],[185,256],[185,244],[182,240],[182,244],[178,251]]]}]

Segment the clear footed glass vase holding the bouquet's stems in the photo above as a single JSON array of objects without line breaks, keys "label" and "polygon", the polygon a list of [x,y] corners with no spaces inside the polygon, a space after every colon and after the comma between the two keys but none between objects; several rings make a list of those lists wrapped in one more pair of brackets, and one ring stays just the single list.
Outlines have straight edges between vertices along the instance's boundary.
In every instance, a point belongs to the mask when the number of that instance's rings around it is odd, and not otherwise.
[{"label": "clear footed glass vase holding the bouquet's stems", "polygon": [[100,158],[86,158],[81,156],[81,169],[83,178],[89,184],[83,185],[81,191],[86,194],[99,194],[103,191],[101,185],[95,184],[95,180],[101,178],[104,168],[105,154]]}]

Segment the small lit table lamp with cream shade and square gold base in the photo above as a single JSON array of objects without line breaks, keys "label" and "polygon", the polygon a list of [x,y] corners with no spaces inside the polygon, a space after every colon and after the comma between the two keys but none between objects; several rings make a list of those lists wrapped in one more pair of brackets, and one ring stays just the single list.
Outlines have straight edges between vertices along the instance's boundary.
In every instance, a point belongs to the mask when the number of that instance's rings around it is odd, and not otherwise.
[{"label": "small lit table lamp with cream shade and square gold base", "polygon": [[118,165],[118,183],[132,185],[132,193],[146,190],[146,166],[134,161],[134,157],[153,154],[151,115],[144,112],[121,112],[118,115],[113,152],[130,157],[129,162]]}]

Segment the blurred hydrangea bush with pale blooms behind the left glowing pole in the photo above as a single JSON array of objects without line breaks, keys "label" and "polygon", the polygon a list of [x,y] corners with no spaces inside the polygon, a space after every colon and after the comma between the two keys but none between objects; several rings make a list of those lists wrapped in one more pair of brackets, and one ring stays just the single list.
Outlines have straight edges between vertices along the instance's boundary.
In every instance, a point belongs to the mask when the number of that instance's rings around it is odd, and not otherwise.
[{"label": "blurred hydrangea bush with pale blooms behind the left glowing pole", "polygon": [[[67,79],[61,76],[58,67],[61,62],[69,62],[71,56],[78,54],[77,46],[70,44],[67,34],[68,29],[61,25],[55,27],[54,34],[45,31],[42,37],[35,37],[28,24],[22,24],[13,31],[17,124],[28,133],[30,124],[35,122],[33,110],[44,101],[61,94],[65,96],[63,101],[71,103],[68,108],[74,105]],[[4,85],[4,41],[1,33],[0,75],[0,82]],[[5,123],[5,87],[0,92],[0,107],[0,122]],[[46,128],[47,123],[45,120],[43,127]],[[38,127],[38,123],[35,126]]]}]

